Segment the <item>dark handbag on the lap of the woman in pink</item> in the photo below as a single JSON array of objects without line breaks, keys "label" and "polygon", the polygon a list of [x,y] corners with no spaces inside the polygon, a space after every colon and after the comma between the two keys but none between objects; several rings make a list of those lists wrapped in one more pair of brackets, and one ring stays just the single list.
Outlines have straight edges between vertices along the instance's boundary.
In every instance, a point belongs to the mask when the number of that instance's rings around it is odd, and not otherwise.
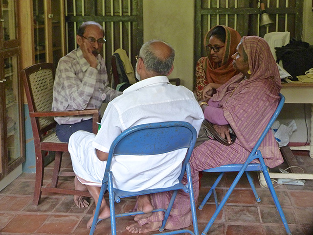
[{"label": "dark handbag on the lap of the woman in pink", "polygon": [[204,119],[200,127],[195,147],[199,146],[201,143],[208,140],[216,140],[223,143],[224,145],[232,144],[236,140],[236,135],[233,129],[230,127],[230,125],[228,125],[228,129],[231,140],[230,143],[227,142],[227,139],[224,139],[220,136],[220,134],[214,129],[213,124],[211,122]]}]

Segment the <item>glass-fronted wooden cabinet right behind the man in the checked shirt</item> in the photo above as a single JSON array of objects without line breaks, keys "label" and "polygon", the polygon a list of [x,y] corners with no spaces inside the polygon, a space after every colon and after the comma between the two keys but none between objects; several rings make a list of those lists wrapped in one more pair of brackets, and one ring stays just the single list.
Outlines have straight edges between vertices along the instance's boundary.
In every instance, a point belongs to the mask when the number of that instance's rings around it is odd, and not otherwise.
[{"label": "glass-fronted wooden cabinet right behind the man in the checked shirt", "polygon": [[57,66],[65,55],[64,0],[34,0],[35,63],[50,62]]}]

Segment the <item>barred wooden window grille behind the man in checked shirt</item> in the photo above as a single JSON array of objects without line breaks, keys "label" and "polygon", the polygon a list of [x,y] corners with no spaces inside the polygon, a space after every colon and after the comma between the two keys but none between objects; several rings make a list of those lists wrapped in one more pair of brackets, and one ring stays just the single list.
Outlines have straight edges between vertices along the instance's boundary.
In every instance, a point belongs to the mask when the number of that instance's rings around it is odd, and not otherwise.
[{"label": "barred wooden window grille behind the man in checked shirt", "polygon": [[67,53],[78,47],[78,27],[95,21],[105,30],[107,42],[101,54],[107,69],[111,69],[111,57],[117,48],[126,50],[135,65],[134,57],[143,44],[142,0],[65,0],[65,12]]}]

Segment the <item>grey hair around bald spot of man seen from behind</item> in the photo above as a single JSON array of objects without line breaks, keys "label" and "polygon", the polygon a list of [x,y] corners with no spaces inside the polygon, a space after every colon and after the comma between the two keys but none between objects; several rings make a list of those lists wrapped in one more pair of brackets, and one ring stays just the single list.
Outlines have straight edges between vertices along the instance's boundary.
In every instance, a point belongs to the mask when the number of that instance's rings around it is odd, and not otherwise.
[{"label": "grey hair around bald spot of man seen from behind", "polygon": [[169,44],[165,43],[171,48],[171,53],[167,58],[159,58],[156,56],[154,48],[151,46],[154,42],[163,42],[159,40],[150,40],[142,45],[140,48],[139,56],[143,60],[145,64],[145,68],[147,71],[155,72],[158,75],[166,76],[172,69],[174,58],[175,58],[175,50]]}]

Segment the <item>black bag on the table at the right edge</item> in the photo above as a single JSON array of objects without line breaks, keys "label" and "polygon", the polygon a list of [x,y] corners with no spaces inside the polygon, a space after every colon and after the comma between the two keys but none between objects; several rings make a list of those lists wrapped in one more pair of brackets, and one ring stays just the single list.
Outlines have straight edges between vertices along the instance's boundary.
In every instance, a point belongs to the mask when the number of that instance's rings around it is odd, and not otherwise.
[{"label": "black bag on the table at the right edge", "polygon": [[291,40],[286,46],[275,47],[276,62],[282,60],[283,68],[291,74],[292,80],[313,68],[313,48],[309,46],[309,43]]}]

